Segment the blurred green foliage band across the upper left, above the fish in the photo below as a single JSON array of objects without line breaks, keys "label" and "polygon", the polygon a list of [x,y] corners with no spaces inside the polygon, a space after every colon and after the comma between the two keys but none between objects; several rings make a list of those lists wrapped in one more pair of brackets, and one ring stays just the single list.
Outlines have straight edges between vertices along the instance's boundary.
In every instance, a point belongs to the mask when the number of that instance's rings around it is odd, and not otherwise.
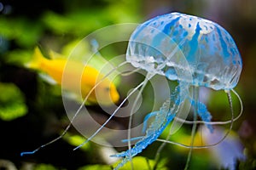
[{"label": "blurred green foliage band across the upper left, above the fish", "polygon": [[[118,3],[109,1],[107,5],[95,8],[81,7],[76,2],[79,1],[74,1],[73,7],[70,7],[69,2],[66,4],[64,2],[63,5],[68,8],[64,14],[51,10],[42,11],[37,20],[2,14],[0,15],[0,36],[9,41],[14,40],[20,48],[31,50],[49,33],[52,36],[64,35],[69,41],[69,38],[84,37],[91,31],[104,26],[140,20],[137,14],[139,3],[136,1],[123,0]],[[130,8],[126,8],[127,6]],[[56,41],[55,38],[51,40]],[[55,43],[61,44],[59,41]]]}]

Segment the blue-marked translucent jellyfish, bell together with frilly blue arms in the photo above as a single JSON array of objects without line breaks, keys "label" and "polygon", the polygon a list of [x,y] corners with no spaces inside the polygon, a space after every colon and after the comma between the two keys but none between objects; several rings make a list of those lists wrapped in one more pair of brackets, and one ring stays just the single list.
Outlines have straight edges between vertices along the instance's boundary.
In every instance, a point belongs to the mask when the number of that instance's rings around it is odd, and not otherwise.
[{"label": "blue-marked translucent jellyfish, bell together with frilly blue arms", "polygon": [[[145,135],[136,138],[138,141],[132,148],[130,146],[128,150],[114,155],[124,157],[116,169],[159,138],[177,116],[185,99],[194,108],[194,121],[197,114],[202,122],[211,122],[207,106],[198,99],[199,87],[224,90],[228,94],[233,120],[230,91],[236,94],[233,88],[239,80],[242,62],[236,43],[222,26],[188,14],[172,13],[155,17],[133,31],[126,60],[147,71],[148,75],[159,74],[177,81],[178,85],[160,110],[149,113],[145,118],[145,122],[148,117],[154,118]],[[213,130],[211,123],[207,123],[207,127]],[[195,133],[195,126],[193,129]]]}]

